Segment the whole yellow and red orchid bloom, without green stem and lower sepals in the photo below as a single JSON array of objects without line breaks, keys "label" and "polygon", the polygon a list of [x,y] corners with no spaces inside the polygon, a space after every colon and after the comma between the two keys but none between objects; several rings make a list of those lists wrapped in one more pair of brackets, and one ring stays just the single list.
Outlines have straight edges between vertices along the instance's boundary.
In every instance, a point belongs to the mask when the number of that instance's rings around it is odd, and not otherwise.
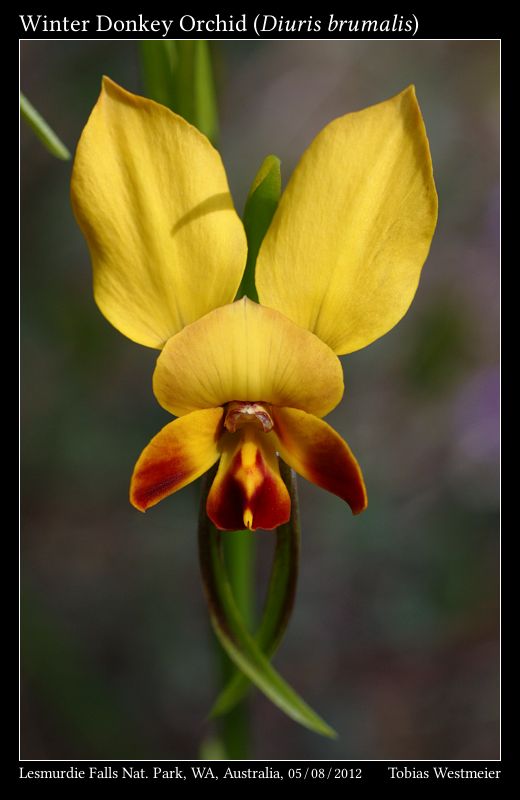
[{"label": "whole yellow and red orchid bloom, without green stem and lower sepals", "polygon": [[258,253],[259,303],[235,299],[247,242],[218,152],[107,78],[72,201],[96,302],[161,350],[154,393],[176,417],[137,461],[133,505],[145,511],[218,461],[211,521],[272,529],[291,511],[281,458],[363,511],[361,470],[323,417],[343,395],[338,356],[399,322],[428,255],[437,196],[413,86],[334,120],[306,150]]}]

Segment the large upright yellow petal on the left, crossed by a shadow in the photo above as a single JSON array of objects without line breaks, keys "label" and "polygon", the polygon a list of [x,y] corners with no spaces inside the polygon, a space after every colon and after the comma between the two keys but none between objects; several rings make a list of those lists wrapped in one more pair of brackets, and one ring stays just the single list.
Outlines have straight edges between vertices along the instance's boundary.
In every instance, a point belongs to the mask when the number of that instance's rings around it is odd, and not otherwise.
[{"label": "large upright yellow petal on the left, crossed by a shadow", "polygon": [[161,347],[233,300],[247,245],[217,151],[182,117],[108,78],[81,135],[72,203],[106,318]]}]

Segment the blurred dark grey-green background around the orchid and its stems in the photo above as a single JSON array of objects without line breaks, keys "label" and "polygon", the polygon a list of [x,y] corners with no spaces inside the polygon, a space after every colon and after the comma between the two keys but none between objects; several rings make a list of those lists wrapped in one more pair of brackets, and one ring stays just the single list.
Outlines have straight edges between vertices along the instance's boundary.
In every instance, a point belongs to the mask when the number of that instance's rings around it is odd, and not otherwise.
[{"label": "blurred dark grey-green background around the orchid and its stems", "polygon": [[[257,758],[497,758],[499,45],[215,42],[220,148],[241,210],[333,117],[415,83],[440,217],[407,317],[343,359],[329,421],[369,508],[300,482],[301,579],[278,669],[340,733],[262,696]],[[102,73],[142,92],[137,43],[22,42],[23,91],[71,150]],[[198,486],[146,515],[137,455],[170,418],[156,352],[97,311],[70,163],[22,128],[22,757],[197,758],[214,652]],[[257,534],[258,580],[273,537]]]}]

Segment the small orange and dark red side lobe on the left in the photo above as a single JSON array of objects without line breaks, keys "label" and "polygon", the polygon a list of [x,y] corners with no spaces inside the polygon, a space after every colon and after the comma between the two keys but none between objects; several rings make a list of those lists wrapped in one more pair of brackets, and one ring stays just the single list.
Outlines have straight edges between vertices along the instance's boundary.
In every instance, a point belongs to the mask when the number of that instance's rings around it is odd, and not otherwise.
[{"label": "small orange and dark red side lobe on the left", "polygon": [[146,511],[207,472],[220,456],[222,408],[193,411],[166,425],[145,447],[130,483],[130,502]]}]

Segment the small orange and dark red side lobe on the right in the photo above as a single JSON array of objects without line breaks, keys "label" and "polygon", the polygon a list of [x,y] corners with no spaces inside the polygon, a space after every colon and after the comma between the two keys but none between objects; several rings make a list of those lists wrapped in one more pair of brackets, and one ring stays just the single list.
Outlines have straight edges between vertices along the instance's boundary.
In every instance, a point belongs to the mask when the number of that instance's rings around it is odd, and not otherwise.
[{"label": "small orange and dark red side lobe on the right", "polygon": [[283,460],[316,486],[341,497],[359,514],[367,507],[363,475],[348,444],[323,420],[295,408],[272,408]]}]

